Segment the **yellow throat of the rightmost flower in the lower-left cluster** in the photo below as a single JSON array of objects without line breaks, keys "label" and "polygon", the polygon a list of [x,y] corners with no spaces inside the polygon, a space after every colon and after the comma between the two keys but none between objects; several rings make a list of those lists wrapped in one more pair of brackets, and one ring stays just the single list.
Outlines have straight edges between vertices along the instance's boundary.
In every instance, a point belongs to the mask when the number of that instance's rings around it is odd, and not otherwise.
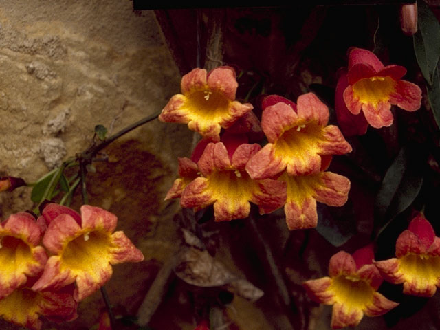
[{"label": "yellow throat of the rightmost flower in the lower-left cluster", "polygon": [[111,248],[111,238],[107,232],[86,232],[65,247],[61,254],[63,267],[69,268],[74,274],[87,272],[98,275],[109,263]]}]

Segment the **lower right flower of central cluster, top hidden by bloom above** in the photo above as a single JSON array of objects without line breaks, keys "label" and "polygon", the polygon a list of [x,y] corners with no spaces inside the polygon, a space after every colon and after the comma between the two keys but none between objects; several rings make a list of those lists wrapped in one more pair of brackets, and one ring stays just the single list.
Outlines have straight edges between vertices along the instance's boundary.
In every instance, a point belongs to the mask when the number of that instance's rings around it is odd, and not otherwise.
[{"label": "lower right flower of central cluster, top hidden by bloom above", "polygon": [[284,172],[278,180],[287,184],[284,210],[289,230],[315,228],[318,223],[316,201],[342,206],[350,191],[350,180],[331,172],[294,177]]}]

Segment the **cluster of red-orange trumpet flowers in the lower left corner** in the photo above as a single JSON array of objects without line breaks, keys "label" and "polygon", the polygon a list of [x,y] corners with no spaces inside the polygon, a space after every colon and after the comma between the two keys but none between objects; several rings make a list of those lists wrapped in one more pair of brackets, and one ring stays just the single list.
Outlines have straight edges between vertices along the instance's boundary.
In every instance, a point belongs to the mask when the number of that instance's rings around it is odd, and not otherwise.
[{"label": "cluster of red-orange trumpet flowers in the lower left corner", "polygon": [[82,206],[78,214],[54,203],[37,220],[21,212],[3,221],[0,315],[37,330],[39,316],[76,318],[78,302],[109,280],[111,265],[144,259],[123,232],[114,232],[116,222],[101,208]]}]

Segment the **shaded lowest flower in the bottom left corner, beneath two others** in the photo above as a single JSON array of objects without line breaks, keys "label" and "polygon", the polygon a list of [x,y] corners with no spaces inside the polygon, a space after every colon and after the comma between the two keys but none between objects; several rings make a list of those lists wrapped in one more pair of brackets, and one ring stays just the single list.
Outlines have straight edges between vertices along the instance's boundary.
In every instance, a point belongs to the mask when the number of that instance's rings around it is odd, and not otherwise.
[{"label": "shaded lowest flower in the bottom left corner, beneath two others", "polygon": [[8,322],[32,330],[41,329],[39,316],[55,322],[71,321],[78,317],[73,285],[58,292],[36,292],[25,286],[0,300],[0,316]]}]

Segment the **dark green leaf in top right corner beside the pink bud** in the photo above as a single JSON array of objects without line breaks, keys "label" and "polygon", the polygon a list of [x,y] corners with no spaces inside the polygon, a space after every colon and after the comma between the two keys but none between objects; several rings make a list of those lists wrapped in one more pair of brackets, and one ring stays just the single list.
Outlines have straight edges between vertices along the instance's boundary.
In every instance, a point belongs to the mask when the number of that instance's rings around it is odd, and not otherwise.
[{"label": "dark green leaf in top right corner beside the pink bud", "polygon": [[423,0],[417,1],[419,31],[414,36],[414,50],[419,67],[429,85],[432,85],[440,57],[440,24]]}]

